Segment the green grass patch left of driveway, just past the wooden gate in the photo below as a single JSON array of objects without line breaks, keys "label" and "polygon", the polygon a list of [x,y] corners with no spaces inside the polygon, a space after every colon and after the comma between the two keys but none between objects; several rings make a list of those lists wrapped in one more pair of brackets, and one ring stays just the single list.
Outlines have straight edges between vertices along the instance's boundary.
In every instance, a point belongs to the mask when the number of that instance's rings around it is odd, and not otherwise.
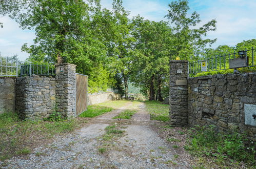
[{"label": "green grass patch left of driveway, just past the wooden gate", "polygon": [[107,112],[111,112],[113,108],[104,107],[101,105],[89,105],[87,111],[84,111],[79,117],[96,117]]}]

